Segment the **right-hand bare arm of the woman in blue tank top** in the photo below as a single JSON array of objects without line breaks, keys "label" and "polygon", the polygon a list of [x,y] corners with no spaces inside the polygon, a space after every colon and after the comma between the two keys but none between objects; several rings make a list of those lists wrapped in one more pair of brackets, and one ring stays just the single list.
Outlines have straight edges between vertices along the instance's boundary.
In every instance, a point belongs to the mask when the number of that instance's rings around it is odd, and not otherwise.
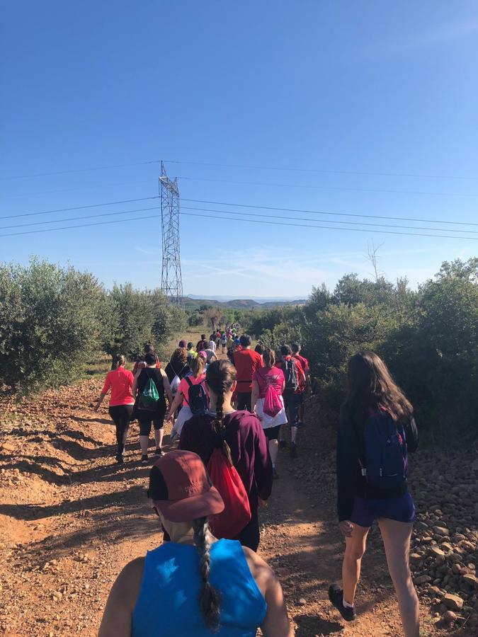
[{"label": "right-hand bare arm of the woman in blue tank top", "polygon": [[268,563],[263,561],[257,553],[247,549],[244,555],[256,581],[258,589],[266,599],[267,612],[261,630],[264,637],[294,637],[294,631],[290,626],[287,608],[285,607],[282,587]]}]

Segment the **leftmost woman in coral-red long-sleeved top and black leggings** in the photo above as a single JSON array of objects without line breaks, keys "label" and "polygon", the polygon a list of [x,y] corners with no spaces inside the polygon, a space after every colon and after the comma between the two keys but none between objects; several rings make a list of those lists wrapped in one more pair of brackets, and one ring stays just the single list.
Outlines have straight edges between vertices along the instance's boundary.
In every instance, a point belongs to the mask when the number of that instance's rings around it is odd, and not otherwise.
[{"label": "leftmost woman in coral-red long-sleeved top and black leggings", "polygon": [[118,354],[114,357],[113,367],[106,374],[105,384],[95,407],[95,411],[98,411],[103,398],[111,390],[108,412],[113,418],[113,423],[115,423],[116,427],[116,461],[118,464],[122,464],[124,461],[123,453],[125,451],[127,430],[130,427],[133,406],[135,405],[135,398],[133,398],[132,394],[134,379],[132,373],[125,369],[125,362],[123,354]]}]

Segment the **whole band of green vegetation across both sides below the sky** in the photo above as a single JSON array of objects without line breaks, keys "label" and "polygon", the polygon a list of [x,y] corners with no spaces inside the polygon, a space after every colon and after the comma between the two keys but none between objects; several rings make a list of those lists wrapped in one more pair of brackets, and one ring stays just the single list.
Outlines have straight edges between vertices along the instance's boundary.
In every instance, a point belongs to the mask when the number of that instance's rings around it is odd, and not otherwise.
[{"label": "whole band of green vegetation across both sides below the sky", "polygon": [[302,343],[325,411],[336,414],[343,400],[348,357],[370,348],[411,399],[421,430],[476,438],[478,258],[443,263],[417,290],[406,279],[348,274],[333,292],[312,289],[302,305],[225,305],[181,311],[158,289],[126,284],[107,291],[72,267],[35,259],[26,267],[1,265],[0,382],[28,394],[67,384],[101,352],[132,358],[152,340],[166,357],[166,343],[186,325],[210,331],[235,322],[263,345]]}]

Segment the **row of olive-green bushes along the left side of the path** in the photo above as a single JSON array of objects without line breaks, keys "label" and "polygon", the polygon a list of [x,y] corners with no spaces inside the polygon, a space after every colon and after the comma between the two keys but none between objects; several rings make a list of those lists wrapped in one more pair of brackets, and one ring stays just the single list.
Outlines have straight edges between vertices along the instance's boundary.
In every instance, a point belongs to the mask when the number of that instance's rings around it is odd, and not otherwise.
[{"label": "row of olive-green bushes along the left side of the path", "polygon": [[18,394],[72,381],[99,351],[135,357],[152,340],[164,355],[185,326],[159,290],[106,292],[88,272],[36,259],[0,265],[0,384]]}]

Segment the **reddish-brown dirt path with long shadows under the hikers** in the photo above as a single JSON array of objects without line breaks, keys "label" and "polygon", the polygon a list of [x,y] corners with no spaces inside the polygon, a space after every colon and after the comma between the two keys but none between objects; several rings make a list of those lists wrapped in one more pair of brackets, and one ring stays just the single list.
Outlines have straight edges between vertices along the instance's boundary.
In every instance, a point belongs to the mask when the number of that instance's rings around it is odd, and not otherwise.
[{"label": "reddish-brown dirt path with long shadows under the hikers", "polygon": [[[95,635],[120,569],[160,541],[145,493],[149,468],[137,462],[137,425],[126,464],[118,467],[106,408],[96,414],[79,407],[100,387],[86,381],[41,403],[2,410],[0,633],[8,637]],[[321,449],[310,444],[319,440],[317,427],[309,422],[301,433],[299,460],[280,456],[280,478],[261,511],[261,555],[283,583],[297,636],[398,636],[397,604],[382,551],[374,550],[380,546],[375,532],[363,565],[360,619],[343,626],[327,602],[343,544],[334,476]],[[426,604],[422,614],[423,635],[437,634]]]}]

